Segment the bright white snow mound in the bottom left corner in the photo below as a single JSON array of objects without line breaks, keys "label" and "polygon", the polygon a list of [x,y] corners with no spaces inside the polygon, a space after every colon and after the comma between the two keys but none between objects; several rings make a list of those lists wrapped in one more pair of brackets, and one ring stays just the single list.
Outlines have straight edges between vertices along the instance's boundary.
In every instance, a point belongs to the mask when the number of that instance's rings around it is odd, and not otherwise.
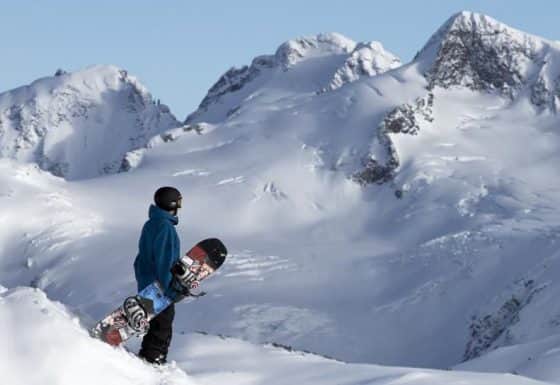
[{"label": "bright white snow mound in the bottom left corner", "polygon": [[76,316],[38,289],[0,293],[0,325],[0,373],[6,385],[196,383],[176,367],[154,368],[92,339]]}]

